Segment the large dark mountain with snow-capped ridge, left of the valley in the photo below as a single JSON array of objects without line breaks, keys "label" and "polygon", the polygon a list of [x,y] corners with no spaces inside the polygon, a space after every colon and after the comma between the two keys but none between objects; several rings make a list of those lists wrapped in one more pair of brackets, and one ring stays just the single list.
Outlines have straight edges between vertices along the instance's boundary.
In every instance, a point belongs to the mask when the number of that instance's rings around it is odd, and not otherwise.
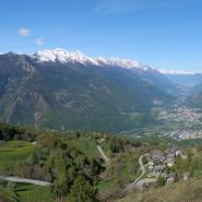
[{"label": "large dark mountain with snow-capped ridge, left of the valley", "polygon": [[150,120],[175,85],[132,60],[63,49],[0,55],[0,120],[54,129],[121,131]]}]

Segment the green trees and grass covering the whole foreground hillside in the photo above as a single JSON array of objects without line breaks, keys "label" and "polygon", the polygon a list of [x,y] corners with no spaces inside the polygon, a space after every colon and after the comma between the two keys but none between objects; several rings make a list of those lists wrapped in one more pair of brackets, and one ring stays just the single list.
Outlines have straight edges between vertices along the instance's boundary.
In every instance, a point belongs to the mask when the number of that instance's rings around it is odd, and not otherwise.
[{"label": "green trees and grass covering the whole foreground hillside", "polygon": [[[134,189],[127,197],[126,188],[142,174],[140,157],[153,152],[165,155],[170,146],[188,154],[185,158],[176,156],[175,164],[165,167],[168,175],[175,174],[174,183],[166,183],[162,173],[156,183],[143,192]],[[150,174],[146,158],[143,164],[146,169],[143,178],[146,178]],[[183,181],[185,174],[189,174],[187,181]],[[98,132],[37,130],[0,123],[0,176],[50,182],[40,187],[0,180],[0,199],[8,202],[197,202],[201,200],[202,146],[200,141],[135,140]],[[190,201],[183,201],[188,189],[192,191],[187,198]]]}]

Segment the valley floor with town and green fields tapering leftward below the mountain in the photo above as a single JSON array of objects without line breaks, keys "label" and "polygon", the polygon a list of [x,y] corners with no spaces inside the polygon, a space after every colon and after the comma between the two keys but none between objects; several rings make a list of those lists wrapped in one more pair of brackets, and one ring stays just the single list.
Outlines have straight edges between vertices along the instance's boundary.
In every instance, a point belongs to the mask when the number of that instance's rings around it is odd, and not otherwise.
[{"label": "valley floor with town and green fields tapering leftward below the mountain", "polygon": [[202,139],[202,110],[186,106],[154,107],[152,116],[157,123],[141,129],[131,129],[120,134],[164,136],[174,141]]}]

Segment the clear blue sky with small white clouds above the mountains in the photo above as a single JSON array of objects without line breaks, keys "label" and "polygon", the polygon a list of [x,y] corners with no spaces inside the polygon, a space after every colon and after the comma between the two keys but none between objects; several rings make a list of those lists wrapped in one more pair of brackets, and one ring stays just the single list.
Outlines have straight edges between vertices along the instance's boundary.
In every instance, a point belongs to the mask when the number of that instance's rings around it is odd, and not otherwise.
[{"label": "clear blue sky with small white clouds above the mountains", "polygon": [[0,0],[0,52],[61,47],[202,70],[200,0]]}]

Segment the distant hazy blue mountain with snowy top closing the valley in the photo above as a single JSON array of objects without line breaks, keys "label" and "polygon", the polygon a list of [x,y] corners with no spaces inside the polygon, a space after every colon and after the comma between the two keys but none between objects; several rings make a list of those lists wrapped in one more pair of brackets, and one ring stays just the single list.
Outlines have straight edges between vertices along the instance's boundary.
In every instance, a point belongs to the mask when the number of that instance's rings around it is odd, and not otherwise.
[{"label": "distant hazy blue mountain with snowy top closing the valley", "polygon": [[165,74],[174,83],[182,86],[192,87],[202,83],[202,73],[166,70],[159,72]]}]

